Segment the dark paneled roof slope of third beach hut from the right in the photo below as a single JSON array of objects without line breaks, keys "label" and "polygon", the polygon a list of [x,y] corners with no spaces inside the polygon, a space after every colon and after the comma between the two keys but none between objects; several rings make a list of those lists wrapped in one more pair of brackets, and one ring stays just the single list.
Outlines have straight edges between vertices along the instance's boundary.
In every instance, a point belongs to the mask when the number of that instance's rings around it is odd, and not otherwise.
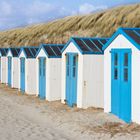
[{"label": "dark paneled roof slope of third beach hut from the right", "polygon": [[64,44],[42,44],[42,47],[49,58],[61,57],[61,51],[64,46]]}]

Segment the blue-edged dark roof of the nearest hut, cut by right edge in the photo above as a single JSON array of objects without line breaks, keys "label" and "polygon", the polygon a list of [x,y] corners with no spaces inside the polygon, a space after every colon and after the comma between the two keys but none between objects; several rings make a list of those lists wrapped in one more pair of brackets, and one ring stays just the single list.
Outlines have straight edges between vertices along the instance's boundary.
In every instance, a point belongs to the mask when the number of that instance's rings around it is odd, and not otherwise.
[{"label": "blue-edged dark roof of the nearest hut, cut by right edge", "polygon": [[119,28],[103,47],[103,50],[105,50],[119,34],[125,36],[136,48],[140,50],[140,28]]}]

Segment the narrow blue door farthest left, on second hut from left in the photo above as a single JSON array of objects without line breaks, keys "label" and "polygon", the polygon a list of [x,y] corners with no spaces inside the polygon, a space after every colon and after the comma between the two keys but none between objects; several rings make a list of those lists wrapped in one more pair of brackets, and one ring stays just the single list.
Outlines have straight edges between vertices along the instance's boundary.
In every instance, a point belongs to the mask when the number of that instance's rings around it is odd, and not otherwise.
[{"label": "narrow blue door farthest left, on second hut from left", "polygon": [[11,86],[12,57],[8,57],[8,85]]}]

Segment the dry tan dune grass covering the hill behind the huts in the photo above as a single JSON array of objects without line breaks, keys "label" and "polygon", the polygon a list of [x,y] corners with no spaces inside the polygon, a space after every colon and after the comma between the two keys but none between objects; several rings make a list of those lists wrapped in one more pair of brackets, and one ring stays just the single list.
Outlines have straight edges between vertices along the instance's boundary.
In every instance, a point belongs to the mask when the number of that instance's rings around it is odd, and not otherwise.
[{"label": "dry tan dune grass covering the hill behind the huts", "polygon": [[70,36],[110,37],[120,26],[140,27],[140,4],[3,31],[0,32],[0,44],[1,47],[37,46],[65,43]]}]

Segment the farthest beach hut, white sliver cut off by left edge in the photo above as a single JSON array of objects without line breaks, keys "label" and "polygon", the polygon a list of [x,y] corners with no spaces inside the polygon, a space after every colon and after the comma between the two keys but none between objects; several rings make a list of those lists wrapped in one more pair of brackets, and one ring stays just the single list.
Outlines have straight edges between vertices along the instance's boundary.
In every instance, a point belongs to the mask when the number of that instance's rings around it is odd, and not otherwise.
[{"label": "farthest beach hut, white sliver cut off by left edge", "polygon": [[7,61],[7,52],[8,52],[8,48],[1,48],[0,49],[1,52],[1,83],[3,84],[7,84],[8,83],[8,74],[7,74],[7,65],[8,65],[8,61]]}]

